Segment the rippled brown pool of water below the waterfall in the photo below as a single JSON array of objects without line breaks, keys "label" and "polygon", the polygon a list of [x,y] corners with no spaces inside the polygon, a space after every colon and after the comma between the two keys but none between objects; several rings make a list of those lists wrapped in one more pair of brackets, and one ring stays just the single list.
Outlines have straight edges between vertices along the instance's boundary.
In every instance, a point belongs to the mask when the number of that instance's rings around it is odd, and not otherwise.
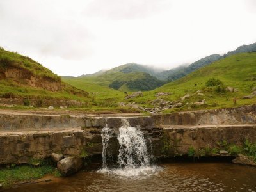
[{"label": "rippled brown pool of water below the waterfall", "polygon": [[79,172],[4,191],[256,191],[256,168],[232,163],[166,163],[137,170]]}]

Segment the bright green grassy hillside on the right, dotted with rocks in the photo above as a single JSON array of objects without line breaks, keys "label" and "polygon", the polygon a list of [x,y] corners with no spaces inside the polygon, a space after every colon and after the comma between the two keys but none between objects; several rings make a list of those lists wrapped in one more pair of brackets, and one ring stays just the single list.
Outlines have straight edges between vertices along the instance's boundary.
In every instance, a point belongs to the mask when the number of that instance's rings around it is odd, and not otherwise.
[{"label": "bright green grassy hillside on the right, dotted with rocks", "polygon": [[[216,86],[207,87],[205,83],[210,78],[220,79],[225,87],[236,88],[237,92],[220,92]],[[237,98],[237,106],[243,104],[255,104],[256,97],[252,99],[242,99],[245,95],[252,93],[252,88],[256,86],[256,53],[241,53],[228,56],[218,60],[211,65],[200,68],[186,77],[164,84],[156,90],[144,92],[144,97],[131,99],[144,106],[150,106],[150,101],[156,99],[154,96],[158,92],[169,92],[170,95],[163,96],[164,100],[175,102],[194,103],[205,99],[207,104],[202,106],[186,106],[182,108],[168,109],[167,112],[177,110],[191,110],[198,108],[225,108],[233,107],[233,99]],[[201,90],[198,94],[198,90]],[[184,95],[190,95],[187,99],[180,100]],[[146,101],[149,102],[146,102]]]}]

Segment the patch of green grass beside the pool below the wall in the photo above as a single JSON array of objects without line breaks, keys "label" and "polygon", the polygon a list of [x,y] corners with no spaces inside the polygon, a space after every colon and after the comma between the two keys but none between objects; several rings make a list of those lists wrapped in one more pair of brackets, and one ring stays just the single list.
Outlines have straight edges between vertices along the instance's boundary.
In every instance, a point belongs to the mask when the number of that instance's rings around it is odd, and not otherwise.
[{"label": "patch of green grass beside the pool below the wall", "polygon": [[54,166],[42,165],[34,167],[25,164],[20,166],[11,166],[10,168],[0,170],[0,183],[6,187],[19,182],[40,179],[46,174],[52,174],[54,177],[61,176]]}]

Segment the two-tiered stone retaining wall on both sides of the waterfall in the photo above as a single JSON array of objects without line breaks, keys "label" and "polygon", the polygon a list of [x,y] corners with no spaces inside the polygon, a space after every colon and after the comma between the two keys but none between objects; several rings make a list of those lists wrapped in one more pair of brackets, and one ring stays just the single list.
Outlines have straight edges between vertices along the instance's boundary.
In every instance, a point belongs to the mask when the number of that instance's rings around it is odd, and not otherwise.
[{"label": "two-tiered stone retaining wall on both sides of the waterfall", "polygon": [[[155,157],[172,157],[196,150],[218,147],[220,141],[240,145],[247,138],[256,142],[255,105],[127,118],[139,126],[152,145]],[[28,163],[49,157],[93,156],[102,153],[101,129],[115,129],[109,149],[118,153],[116,136],[122,118],[88,118],[58,115],[0,115],[0,164]]]}]

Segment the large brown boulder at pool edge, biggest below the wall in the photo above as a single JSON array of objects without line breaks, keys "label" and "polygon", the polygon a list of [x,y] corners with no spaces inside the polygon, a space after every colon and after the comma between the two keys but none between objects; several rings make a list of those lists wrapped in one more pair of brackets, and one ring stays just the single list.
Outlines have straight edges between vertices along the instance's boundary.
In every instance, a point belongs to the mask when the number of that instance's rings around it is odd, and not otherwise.
[{"label": "large brown boulder at pool edge, biggest below the wall", "polygon": [[62,175],[72,175],[79,171],[83,166],[83,161],[78,157],[67,157],[57,163],[57,167]]}]

